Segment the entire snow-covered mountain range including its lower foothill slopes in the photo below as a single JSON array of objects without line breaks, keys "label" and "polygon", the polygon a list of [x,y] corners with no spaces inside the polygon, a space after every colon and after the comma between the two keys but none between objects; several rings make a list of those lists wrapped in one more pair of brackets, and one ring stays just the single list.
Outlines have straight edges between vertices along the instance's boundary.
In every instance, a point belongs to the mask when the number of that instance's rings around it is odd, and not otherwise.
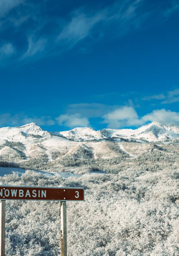
[{"label": "entire snow-covered mountain range including its lower foothill slopes", "polygon": [[[113,139],[113,140],[112,140]],[[147,150],[146,142],[179,142],[179,125],[152,122],[132,129],[74,128],[64,132],[47,132],[35,123],[20,127],[0,128],[0,160],[23,162],[36,157],[45,157],[48,161],[64,156],[79,158],[112,158],[118,156],[119,149],[136,156]],[[125,142],[141,142],[129,143]],[[115,146],[114,146],[115,145]]]}]

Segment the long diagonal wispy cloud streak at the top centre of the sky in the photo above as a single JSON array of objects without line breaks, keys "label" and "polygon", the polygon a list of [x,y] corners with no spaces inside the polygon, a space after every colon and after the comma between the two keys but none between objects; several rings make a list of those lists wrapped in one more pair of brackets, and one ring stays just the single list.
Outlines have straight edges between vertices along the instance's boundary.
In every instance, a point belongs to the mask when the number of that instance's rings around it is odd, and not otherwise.
[{"label": "long diagonal wispy cloud streak at the top centre of the sky", "polygon": [[[119,29],[116,31],[116,36],[121,36],[128,31],[131,25],[139,27],[144,17],[149,15],[139,11],[138,8],[142,3],[143,0],[116,1],[96,13],[84,12],[82,9],[72,12],[71,20],[66,23],[58,35],[57,42],[66,44],[66,49],[69,50],[77,42],[90,36],[91,30],[99,22],[103,24],[103,29],[112,23],[118,24]],[[103,35],[105,35],[105,31],[103,31]]]}]

